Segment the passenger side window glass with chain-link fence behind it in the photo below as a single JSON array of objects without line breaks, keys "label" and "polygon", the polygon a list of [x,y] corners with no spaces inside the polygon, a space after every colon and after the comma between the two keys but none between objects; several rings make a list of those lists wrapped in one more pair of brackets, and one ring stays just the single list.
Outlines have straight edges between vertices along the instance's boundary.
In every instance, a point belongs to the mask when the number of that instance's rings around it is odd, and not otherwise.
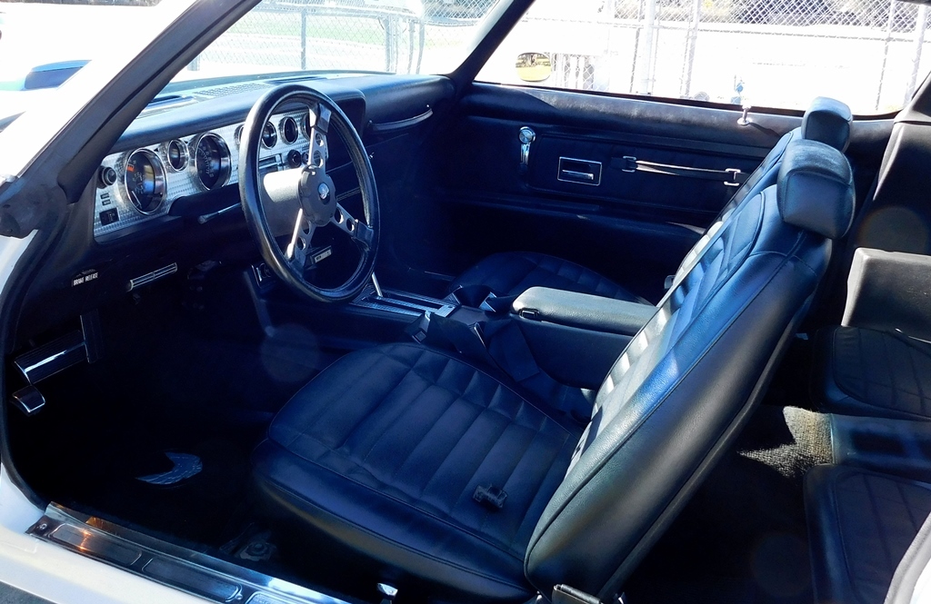
[{"label": "passenger side window glass with chain-link fence behind it", "polygon": [[895,0],[538,0],[478,79],[789,109],[823,95],[884,114],[931,69],[927,13]]}]

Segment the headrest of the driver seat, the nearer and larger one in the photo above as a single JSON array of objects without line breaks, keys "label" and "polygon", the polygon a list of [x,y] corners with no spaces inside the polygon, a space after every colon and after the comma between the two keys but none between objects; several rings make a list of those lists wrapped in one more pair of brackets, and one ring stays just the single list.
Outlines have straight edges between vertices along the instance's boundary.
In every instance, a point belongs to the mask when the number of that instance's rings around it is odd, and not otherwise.
[{"label": "headrest of the driver seat, the nearer and larger one", "polygon": [[779,168],[776,201],[783,221],[831,239],[843,237],[854,219],[850,163],[823,142],[789,142]]}]

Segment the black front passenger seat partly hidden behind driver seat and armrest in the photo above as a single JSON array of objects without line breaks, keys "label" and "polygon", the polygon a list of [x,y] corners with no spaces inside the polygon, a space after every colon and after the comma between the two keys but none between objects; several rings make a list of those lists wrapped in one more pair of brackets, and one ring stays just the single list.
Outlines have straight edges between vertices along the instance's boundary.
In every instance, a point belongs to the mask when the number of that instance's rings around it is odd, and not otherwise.
[{"label": "black front passenger seat partly hidden behind driver seat and armrest", "polygon": [[[722,208],[715,221],[740,202],[776,183],[782,155],[790,141],[821,141],[841,152],[850,139],[853,115],[841,101],[818,97],[805,112],[802,126],[786,133]],[[566,289],[627,302],[650,303],[611,279],[575,262],[536,252],[514,251],[492,254],[453,280],[450,293],[459,288],[485,286],[496,296],[517,296],[533,287]]]}]

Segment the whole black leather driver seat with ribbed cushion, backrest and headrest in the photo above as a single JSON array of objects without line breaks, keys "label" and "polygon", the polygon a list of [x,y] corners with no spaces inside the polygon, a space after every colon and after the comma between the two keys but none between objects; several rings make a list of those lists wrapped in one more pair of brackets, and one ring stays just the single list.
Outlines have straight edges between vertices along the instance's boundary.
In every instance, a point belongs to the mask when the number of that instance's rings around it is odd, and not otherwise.
[{"label": "whole black leather driver seat with ribbed cushion, backrest and headrest", "polygon": [[762,396],[853,207],[843,154],[790,143],[778,184],[677,275],[584,431],[457,356],[344,356],[255,450],[263,497],[401,593],[519,601],[568,585],[611,601]]}]

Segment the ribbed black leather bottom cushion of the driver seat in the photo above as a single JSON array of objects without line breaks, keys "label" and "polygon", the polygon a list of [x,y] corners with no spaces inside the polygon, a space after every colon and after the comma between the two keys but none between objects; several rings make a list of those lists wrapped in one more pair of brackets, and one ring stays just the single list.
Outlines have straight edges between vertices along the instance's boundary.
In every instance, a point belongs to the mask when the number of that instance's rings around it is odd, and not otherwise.
[{"label": "ribbed black leather bottom cushion of the driver seat", "polygon": [[[366,557],[475,597],[529,597],[523,561],[580,429],[413,344],[344,356],[277,414],[263,492]],[[473,496],[505,490],[501,509]]]}]

